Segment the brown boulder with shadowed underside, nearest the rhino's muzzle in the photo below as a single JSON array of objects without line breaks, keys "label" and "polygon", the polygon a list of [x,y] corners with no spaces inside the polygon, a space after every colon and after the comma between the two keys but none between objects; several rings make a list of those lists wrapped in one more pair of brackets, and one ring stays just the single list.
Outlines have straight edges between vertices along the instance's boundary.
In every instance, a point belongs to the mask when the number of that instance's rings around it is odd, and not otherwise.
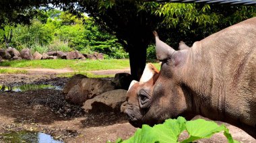
[{"label": "brown boulder with shadowed underside, nearest the rhino's muzzle", "polygon": [[120,112],[121,104],[126,99],[126,90],[117,89],[113,91],[107,91],[94,97],[93,99],[88,99],[84,105],[83,109],[86,113],[98,113],[106,111]]}]

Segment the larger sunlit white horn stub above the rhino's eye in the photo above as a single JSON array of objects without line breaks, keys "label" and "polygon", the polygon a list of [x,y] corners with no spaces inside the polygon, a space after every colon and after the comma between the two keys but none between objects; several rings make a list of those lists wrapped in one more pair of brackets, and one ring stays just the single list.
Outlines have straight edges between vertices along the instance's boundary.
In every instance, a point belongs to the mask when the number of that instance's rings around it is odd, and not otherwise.
[{"label": "larger sunlit white horn stub above the rhino's eye", "polygon": [[146,67],[143,70],[143,74],[139,80],[139,84],[146,83],[152,79],[156,73],[159,73],[159,71],[152,63],[146,64]]}]

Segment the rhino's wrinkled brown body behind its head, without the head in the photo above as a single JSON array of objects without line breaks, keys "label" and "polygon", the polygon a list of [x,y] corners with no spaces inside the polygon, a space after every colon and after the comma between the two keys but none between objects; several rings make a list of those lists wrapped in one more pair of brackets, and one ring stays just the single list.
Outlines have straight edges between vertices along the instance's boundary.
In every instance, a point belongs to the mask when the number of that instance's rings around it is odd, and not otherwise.
[{"label": "rhino's wrinkled brown body behind its head, without the head", "polygon": [[256,126],[256,17],[196,42],[191,53],[207,116]]}]

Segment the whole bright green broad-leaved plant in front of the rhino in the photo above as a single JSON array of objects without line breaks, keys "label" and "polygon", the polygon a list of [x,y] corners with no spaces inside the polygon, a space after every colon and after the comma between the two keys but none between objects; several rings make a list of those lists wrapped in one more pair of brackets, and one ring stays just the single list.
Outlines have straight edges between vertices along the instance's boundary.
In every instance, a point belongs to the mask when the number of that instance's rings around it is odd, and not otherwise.
[{"label": "whole bright green broad-leaved plant in front of the rhino", "polygon": [[179,136],[184,131],[188,132],[189,138],[181,141],[181,143],[194,142],[202,138],[211,138],[213,134],[222,131],[224,131],[224,136],[226,136],[228,143],[238,142],[233,140],[228,128],[224,124],[218,126],[215,122],[205,121],[203,119],[187,121],[184,117],[178,117],[177,120],[168,119],[164,124],[158,124],[154,127],[143,125],[128,140],[119,139],[116,142],[179,142]]}]

